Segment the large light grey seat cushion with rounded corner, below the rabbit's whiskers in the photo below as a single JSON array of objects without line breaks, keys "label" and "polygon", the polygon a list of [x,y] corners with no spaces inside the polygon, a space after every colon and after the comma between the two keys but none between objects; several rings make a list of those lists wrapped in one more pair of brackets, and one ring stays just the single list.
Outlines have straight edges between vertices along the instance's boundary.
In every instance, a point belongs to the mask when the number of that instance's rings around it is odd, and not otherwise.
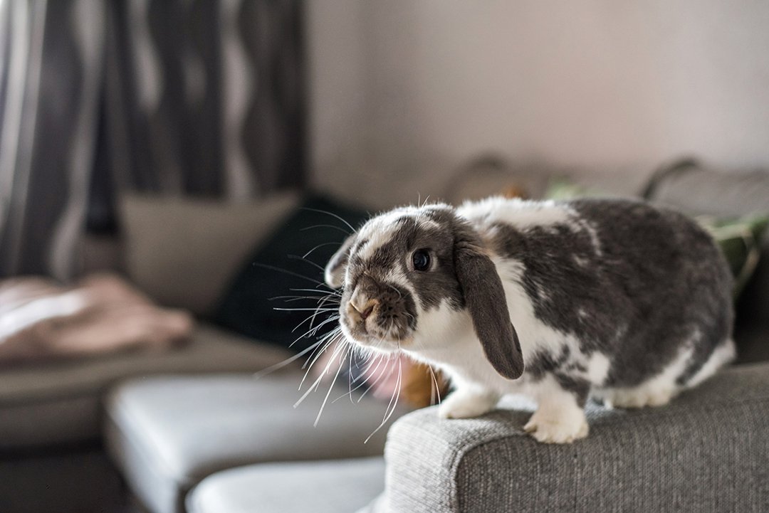
[{"label": "large light grey seat cushion with rounded corner, below the rabbit's whiskers", "polygon": [[[301,373],[158,377],[125,383],[108,401],[107,443],[128,484],[153,513],[183,511],[186,492],[225,468],[381,455],[386,428],[368,443],[387,404],[344,398],[348,383],[321,387],[297,408]],[[305,389],[307,384],[305,383]],[[394,415],[394,417],[397,416]]]}]

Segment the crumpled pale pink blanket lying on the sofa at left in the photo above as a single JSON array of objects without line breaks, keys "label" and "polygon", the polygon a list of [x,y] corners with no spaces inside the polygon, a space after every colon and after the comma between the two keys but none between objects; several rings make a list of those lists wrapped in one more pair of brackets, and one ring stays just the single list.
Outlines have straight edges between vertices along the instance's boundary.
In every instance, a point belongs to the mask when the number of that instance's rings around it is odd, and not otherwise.
[{"label": "crumpled pale pink blanket lying on the sofa at left", "polygon": [[188,313],[156,306],[118,276],[75,286],[42,277],[0,281],[0,363],[123,349],[166,349],[191,333]]}]

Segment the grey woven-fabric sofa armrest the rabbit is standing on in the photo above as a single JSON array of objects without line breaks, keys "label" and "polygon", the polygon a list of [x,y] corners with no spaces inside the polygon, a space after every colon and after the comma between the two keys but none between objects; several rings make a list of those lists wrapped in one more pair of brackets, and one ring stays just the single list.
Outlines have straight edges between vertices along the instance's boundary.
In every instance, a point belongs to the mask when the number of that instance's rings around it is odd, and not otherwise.
[{"label": "grey woven-fabric sofa armrest the rabbit is standing on", "polygon": [[588,405],[591,433],[543,445],[530,412],[406,415],[386,448],[388,511],[767,511],[769,363],[735,366],[670,405]]}]

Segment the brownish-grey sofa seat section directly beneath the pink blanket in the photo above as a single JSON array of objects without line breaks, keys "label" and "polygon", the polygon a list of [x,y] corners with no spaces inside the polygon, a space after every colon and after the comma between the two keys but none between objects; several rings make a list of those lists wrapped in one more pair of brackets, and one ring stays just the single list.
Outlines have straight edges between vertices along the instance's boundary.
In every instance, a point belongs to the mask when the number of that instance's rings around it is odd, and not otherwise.
[{"label": "brownish-grey sofa seat section directly beneath the pink blanket", "polygon": [[0,451],[95,439],[101,431],[102,396],[120,379],[169,372],[256,371],[289,354],[200,325],[190,343],[164,352],[119,352],[2,369]]}]

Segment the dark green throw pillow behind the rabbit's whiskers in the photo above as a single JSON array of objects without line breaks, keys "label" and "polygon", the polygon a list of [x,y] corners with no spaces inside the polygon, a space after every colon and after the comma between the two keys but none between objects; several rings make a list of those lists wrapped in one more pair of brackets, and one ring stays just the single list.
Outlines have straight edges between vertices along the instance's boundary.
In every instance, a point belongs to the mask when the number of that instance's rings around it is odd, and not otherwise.
[{"label": "dark green throw pillow behind the rabbit's whiskers", "polygon": [[[311,327],[305,319],[331,292],[323,284],[322,268],[351,233],[350,227],[335,216],[355,228],[368,219],[365,210],[328,197],[306,198],[251,253],[223,294],[212,320],[254,339],[297,351],[333,329],[336,323],[327,323],[313,336],[301,338]],[[329,301],[325,307],[335,308],[337,304]],[[331,313],[321,312],[313,326]]]}]

